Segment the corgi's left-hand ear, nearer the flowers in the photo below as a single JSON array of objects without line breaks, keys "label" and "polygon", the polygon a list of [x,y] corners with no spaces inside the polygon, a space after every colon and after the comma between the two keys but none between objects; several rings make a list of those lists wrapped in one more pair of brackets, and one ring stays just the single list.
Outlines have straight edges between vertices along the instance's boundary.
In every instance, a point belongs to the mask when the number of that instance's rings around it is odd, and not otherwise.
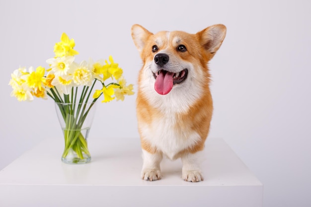
[{"label": "corgi's left-hand ear, nearer the flowers", "polygon": [[145,29],[143,26],[139,24],[134,24],[132,26],[132,38],[139,52],[143,51],[150,35],[153,35],[153,33]]}]

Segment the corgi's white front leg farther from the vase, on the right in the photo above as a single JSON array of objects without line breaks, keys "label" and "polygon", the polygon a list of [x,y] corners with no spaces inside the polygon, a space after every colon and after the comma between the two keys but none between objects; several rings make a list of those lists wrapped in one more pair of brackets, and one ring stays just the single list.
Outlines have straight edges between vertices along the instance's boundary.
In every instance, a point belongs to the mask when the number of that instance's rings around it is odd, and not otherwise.
[{"label": "corgi's white front leg farther from the vase, on the right", "polygon": [[200,170],[202,151],[196,153],[185,153],[181,156],[182,161],[182,179],[190,182],[199,182],[203,180]]}]

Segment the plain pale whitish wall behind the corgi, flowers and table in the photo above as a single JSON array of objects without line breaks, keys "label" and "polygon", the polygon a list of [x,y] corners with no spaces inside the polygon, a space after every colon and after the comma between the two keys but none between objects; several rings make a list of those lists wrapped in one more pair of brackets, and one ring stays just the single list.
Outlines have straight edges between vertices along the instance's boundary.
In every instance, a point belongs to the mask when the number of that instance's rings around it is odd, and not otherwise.
[{"label": "plain pale whitish wall behind the corgi, flowers and table", "polygon": [[[209,137],[224,138],[264,184],[264,207],[310,207],[310,9],[309,0],[1,0],[0,169],[63,136],[51,99],[18,102],[8,85],[19,66],[47,67],[62,32],[75,39],[78,62],[112,55],[137,86],[133,24],[196,33],[223,23],[227,37],[210,62]],[[98,103],[90,137],[138,138],[135,99]]]}]

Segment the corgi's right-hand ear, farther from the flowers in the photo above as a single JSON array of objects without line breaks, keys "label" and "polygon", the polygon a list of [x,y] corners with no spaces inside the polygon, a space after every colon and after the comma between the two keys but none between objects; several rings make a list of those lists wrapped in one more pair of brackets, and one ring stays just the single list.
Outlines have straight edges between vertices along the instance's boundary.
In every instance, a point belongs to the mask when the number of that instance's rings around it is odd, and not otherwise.
[{"label": "corgi's right-hand ear, farther from the flowers", "polygon": [[215,24],[198,32],[196,35],[199,36],[202,47],[213,57],[222,45],[226,37],[226,31],[225,25]]}]

